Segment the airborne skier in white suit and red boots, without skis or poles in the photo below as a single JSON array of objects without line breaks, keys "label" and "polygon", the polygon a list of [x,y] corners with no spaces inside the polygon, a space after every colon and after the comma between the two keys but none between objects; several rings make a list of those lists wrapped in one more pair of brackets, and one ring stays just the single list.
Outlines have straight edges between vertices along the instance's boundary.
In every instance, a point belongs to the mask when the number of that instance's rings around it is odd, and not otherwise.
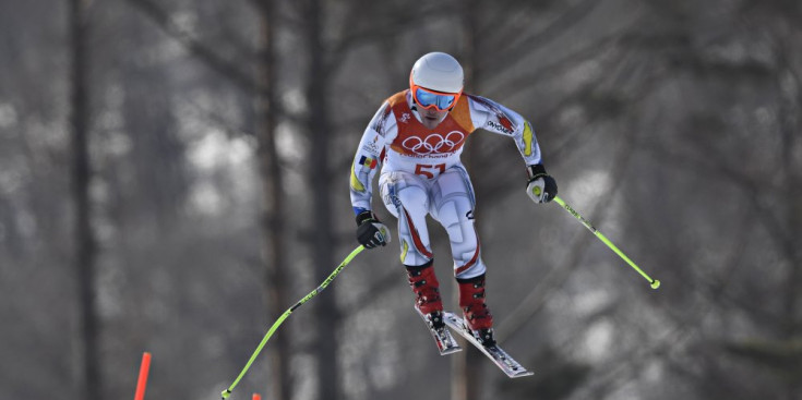
[{"label": "airborne skier in white suit and red boots, without skis or poles", "polygon": [[442,329],[443,304],[434,274],[426,217],[448,234],[459,307],[474,337],[495,344],[493,317],[484,303],[484,263],[474,227],[476,198],[459,160],[476,129],[515,141],[526,162],[526,193],[535,203],[556,195],[528,121],[504,106],[463,93],[463,68],[443,52],[424,54],[412,66],[409,88],[387,98],[359,143],[350,171],[350,198],[357,215],[357,240],[367,249],[386,245],[386,227],[371,210],[372,180],[381,165],[379,187],[387,210],[398,220],[400,260],[416,294],[415,306],[430,327]]}]

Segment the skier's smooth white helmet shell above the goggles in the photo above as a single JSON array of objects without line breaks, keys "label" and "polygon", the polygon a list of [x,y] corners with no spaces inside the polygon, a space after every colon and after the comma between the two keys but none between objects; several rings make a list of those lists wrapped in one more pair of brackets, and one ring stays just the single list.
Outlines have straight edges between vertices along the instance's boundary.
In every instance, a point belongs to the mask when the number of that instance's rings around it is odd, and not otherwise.
[{"label": "skier's smooth white helmet shell above the goggles", "polygon": [[463,66],[444,53],[430,52],[415,62],[409,74],[409,86],[420,86],[442,93],[463,92]]}]

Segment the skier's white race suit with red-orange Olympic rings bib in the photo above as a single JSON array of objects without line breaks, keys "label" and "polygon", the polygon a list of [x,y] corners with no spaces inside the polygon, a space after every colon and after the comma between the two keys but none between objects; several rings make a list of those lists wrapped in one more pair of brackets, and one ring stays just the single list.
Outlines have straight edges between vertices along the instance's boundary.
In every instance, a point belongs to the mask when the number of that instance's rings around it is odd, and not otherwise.
[{"label": "skier's white race suit with red-orange Olympic rings bib", "polygon": [[351,205],[370,210],[372,180],[381,166],[379,186],[387,210],[398,219],[400,259],[407,266],[429,263],[432,251],[426,216],[448,233],[454,275],[469,279],[484,274],[474,227],[476,198],[459,160],[463,145],[476,129],[515,141],[526,166],[541,162],[531,124],[490,99],[463,94],[434,129],[420,122],[409,90],[384,101],[364,130],[350,172]]}]

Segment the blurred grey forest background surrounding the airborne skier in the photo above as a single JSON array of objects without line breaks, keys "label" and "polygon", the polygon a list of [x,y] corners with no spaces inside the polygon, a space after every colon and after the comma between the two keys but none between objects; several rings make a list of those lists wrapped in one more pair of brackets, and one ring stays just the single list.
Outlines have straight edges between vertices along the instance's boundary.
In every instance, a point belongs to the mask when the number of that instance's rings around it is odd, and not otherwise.
[{"label": "blurred grey forest background surrounding the airborne skier", "polygon": [[0,0],[3,397],[130,398],[149,351],[148,399],[217,399],[357,245],[359,137],[440,50],[662,288],[480,131],[488,302],[536,375],[438,355],[393,243],[232,399],[802,399],[801,44],[799,0]]}]

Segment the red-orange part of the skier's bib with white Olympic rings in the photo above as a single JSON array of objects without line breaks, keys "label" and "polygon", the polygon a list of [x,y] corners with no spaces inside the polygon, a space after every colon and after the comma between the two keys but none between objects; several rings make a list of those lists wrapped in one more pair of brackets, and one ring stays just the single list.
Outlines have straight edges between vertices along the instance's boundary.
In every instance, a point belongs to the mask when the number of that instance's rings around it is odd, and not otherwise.
[{"label": "red-orange part of the skier's bib with white Olympic rings", "polygon": [[393,111],[398,135],[390,147],[405,156],[416,158],[444,158],[459,155],[468,135],[475,131],[470,119],[468,96],[459,96],[457,104],[443,122],[430,130],[418,121],[407,104],[409,89],[396,93],[387,99]]}]

